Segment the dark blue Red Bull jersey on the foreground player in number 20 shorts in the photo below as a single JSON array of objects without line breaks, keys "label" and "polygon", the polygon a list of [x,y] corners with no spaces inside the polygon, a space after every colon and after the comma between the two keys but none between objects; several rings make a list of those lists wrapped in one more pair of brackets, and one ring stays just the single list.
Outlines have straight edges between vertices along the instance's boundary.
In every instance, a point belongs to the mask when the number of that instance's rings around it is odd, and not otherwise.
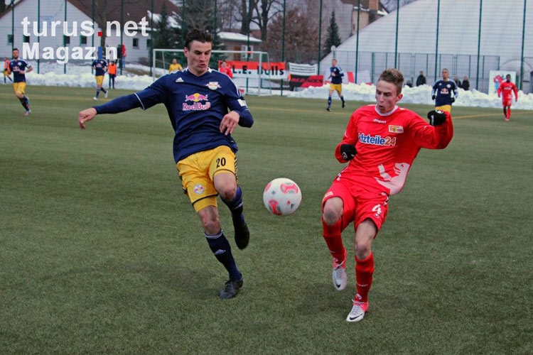
[{"label": "dark blue Red Bull jersey on the foreground player in number 20 shorts", "polygon": [[220,121],[229,111],[240,115],[239,126],[254,123],[244,97],[230,77],[208,70],[197,77],[185,68],[163,75],[136,93],[142,109],[164,104],[175,132],[173,153],[176,163],[188,155],[228,146],[237,152],[231,135],[220,133]]}]

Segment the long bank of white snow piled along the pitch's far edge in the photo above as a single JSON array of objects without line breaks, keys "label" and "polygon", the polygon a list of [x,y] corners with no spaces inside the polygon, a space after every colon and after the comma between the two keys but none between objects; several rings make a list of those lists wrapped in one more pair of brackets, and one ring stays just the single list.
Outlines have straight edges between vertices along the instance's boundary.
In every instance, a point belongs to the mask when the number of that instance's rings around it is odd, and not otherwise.
[{"label": "long bank of white snow piled along the pitch's far edge", "polygon": [[[95,76],[91,73],[90,63],[85,65],[75,65],[68,63],[60,65],[55,62],[41,63],[39,65],[40,74],[37,74],[37,64],[33,65],[33,72],[28,73],[26,78],[29,85],[43,86],[65,86],[65,87],[95,87]],[[126,63],[128,70],[149,72],[149,67],[139,64]],[[66,72],[66,73],[64,73]],[[115,79],[117,89],[131,89],[138,91],[144,89],[152,83],[149,75],[134,75],[123,71],[124,75],[118,75]],[[163,75],[166,70],[156,70],[156,75]],[[107,87],[108,79],[104,80],[104,87]],[[328,85],[323,87],[310,87],[300,92],[289,92],[284,90],[287,97],[304,97],[315,99],[327,99]],[[428,104],[432,105],[431,87],[424,85],[421,87],[404,87],[402,90],[404,97],[400,103],[404,104]],[[273,90],[272,94],[279,95],[280,92]],[[343,94],[348,101],[375,102],[375,87],[367,84],[343,84]],[[333,94],[334,99],[336,93]],[[502,107],[502,100],[496,94],[484,94],[478,91],[464,91],[459,89],[459,96],[454,106],[463,107]],[[518,102],[513,102],[514,109],[533,109],[533,94],[518,93]]]}]

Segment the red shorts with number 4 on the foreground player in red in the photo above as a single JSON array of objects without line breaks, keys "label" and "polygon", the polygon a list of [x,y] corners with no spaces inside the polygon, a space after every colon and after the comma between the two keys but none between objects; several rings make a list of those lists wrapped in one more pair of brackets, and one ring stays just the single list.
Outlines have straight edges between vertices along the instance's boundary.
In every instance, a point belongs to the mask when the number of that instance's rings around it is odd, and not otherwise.
[{"label": "red shorts with number 4 on the foreground player in red", "polygon": [[345,180],[335,179],[329,190],[325,192],[322,207],[332,197],[340,197],[343,200],[344,211],[341,230],[344,230],[351,222],[353,222],[354,229],[357,229],[357,226],[365,219],[371,219],[379,231],[387,218],[389,195],[385,192],[381,194],[370,192],[358,185],[349,186]]}]

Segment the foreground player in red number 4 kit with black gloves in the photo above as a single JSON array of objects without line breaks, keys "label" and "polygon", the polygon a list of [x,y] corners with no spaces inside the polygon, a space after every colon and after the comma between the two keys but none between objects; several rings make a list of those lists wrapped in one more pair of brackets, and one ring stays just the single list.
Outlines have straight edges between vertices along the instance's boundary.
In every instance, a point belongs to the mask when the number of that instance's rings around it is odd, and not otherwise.
[{"label": "foreground player in red number 4 kit with black gloves", "polygon": [[322,200],[323,237],[333,256],[333,285],[347,285],[346,249],[342,231],[355,228],[355,280],[357,294],[346,320],[362,320],[374,273],[372,241],[387,217],[389,195],[404,187],[407,173],[420,148],[442,149],[453,137],[451,115],[429,111],[429,124],[418,114],[397,106],[404,77],[395,69],[379,76],[376,104],[360,107],[350,116],[335,158],[348,163]]}]

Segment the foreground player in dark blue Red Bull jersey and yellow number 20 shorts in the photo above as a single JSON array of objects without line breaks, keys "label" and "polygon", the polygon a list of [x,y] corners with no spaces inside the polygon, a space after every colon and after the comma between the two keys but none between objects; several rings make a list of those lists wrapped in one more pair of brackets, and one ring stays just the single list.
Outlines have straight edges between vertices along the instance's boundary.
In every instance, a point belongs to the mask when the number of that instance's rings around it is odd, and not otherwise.
[{"label": "foreground player in dark blue Red Bull jersey and yellow number 20 shorts", "polygon": [[234,82],[208,67],[211,50],[210,32],[191,30],[183,48],[188,67],[163,75],[141,92],[85,109],[78,122],[85,129],[96,114],[165,105],[175,131],[173,153],[183,192],[200,217],[208,246],[229,274],[230,280],[219,293],[225,299],[239,293],[242,273],[220,226],[217,195],[230,208],[235,244],[239,249],[246,248],[249,230],[244,221],[242,190],[237,184],[237,144],[231,134],[237,125],[251,127],[254,119]]}]

